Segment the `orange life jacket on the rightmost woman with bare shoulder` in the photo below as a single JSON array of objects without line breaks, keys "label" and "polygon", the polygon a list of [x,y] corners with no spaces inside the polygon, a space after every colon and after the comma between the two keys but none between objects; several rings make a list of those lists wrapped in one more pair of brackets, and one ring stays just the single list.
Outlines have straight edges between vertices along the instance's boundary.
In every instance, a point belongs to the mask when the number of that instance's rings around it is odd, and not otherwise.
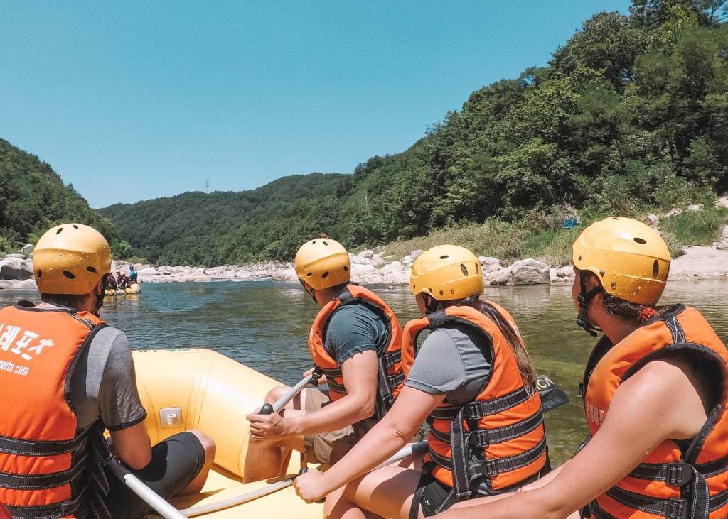
[{"label": "orange life jacket on the rightmost woman with bare shoulder", "polygon": [[711,325],[695,308],[678,305],[608,348],[609,343],[598,343],[582,382],[592,435],[604,422],[617,387],[662,355],[680,351],[715,363],[722,374],[722,391],[719,405],[693,440],[660,443],[626,478],[593,501],[586,517],[728,517],[728,351]]}]

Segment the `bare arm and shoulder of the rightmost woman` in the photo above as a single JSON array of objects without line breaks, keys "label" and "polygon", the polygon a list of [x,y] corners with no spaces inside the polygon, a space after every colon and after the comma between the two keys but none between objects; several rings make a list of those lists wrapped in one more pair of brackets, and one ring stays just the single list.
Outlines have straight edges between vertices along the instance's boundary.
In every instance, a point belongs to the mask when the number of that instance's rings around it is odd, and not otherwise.
[{"label": "bare arm and shoulder of the rightmost woman", "polygon": [[604,424],[550,483],[438,518],[565,518],[612,488],[665,439],[694,437],[705,419],[701,395],[684,368],[653,361],[620,385]]}]

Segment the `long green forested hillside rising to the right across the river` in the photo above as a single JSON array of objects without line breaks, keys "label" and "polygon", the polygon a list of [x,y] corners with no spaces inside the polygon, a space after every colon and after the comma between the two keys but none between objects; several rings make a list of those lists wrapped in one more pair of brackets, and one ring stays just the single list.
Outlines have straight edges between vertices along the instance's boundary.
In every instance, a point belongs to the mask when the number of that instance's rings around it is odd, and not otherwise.
[{"label": "long green forested hillside rising to the right across the river", "polygon": [[629,16],[598,13],[547,66],[474,92],[412,148],[352,176],[103,214],[142,255],[209,264],[284,259],[322,230],[356,246],[488,219],[555,225],[574,209],[688,203],[728,188],[724,4],[633,0]]}]

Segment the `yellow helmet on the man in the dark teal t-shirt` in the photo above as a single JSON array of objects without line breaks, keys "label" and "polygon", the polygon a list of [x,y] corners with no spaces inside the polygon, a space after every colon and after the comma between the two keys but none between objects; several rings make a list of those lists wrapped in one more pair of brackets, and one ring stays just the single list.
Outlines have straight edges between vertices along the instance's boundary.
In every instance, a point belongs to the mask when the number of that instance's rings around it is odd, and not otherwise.
[{"label": "yellow helmet on the man in the dark teal t-shirt", "polygon": [[296,252],[296,275],[315,290],[347,283],[351,279],[349,253],[338,241],[316,238]]}]

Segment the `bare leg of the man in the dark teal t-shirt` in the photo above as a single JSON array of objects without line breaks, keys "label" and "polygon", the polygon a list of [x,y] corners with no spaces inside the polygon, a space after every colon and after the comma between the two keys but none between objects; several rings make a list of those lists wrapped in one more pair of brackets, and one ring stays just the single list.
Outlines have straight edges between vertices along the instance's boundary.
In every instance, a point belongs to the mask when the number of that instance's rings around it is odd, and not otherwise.
[{"label": "bare leg of the man in the dark teal t-shirt", "polygon": [[[268,392],[265,398],[266,403],[274,403],[278,398],[282,397],[290,387],[279,386],[274,387]],[[303,403],[306,401],[304,395],[306,390],[302,390],[281,410],[281,414],[291,417],[303,411]],[[304,450],[304,438],[302,436],[294,436],[286,438],[282,441],[265,441],[250,438],[248,443],[248,452],[245,454],[245,469],[243,472],[243,481],[258,481],[261,479],[274,478],[285,473],[285,467],[288,466],[288,459],[292,449],[296,451]]]}]

